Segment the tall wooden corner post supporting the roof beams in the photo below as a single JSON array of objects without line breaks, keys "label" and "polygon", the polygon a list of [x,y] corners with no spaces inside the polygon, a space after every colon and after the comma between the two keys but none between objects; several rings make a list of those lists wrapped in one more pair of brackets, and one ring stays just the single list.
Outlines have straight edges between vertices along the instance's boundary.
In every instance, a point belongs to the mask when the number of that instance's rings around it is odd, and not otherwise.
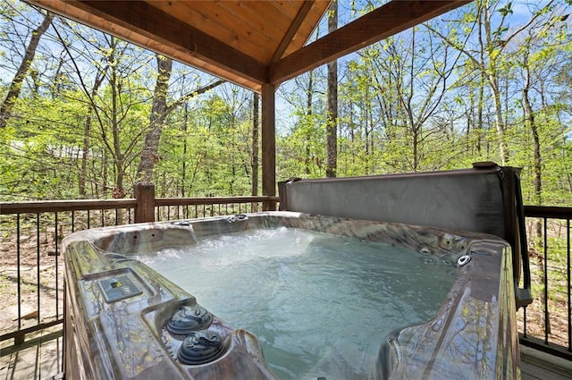
[{"label": "tall wooden corner post supporting the roof beams", "polygon": [[[262,86],[262,195],[276,195],[276,125],[275,87],[265,83]],[[274,201],[264,203],[265,211],[275,210]]]}]

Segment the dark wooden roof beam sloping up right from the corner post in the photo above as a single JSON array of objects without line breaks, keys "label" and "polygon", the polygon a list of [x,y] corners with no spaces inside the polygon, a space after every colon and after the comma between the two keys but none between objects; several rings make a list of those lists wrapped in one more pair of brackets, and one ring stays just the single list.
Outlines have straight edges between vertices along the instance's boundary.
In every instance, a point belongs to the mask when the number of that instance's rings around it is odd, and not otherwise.
[{"label": "dark wooden roof beam sloping up right from the corner post", "polygon": [[271,64],[268,81],[278,85],[470,2],[393,0]]}]

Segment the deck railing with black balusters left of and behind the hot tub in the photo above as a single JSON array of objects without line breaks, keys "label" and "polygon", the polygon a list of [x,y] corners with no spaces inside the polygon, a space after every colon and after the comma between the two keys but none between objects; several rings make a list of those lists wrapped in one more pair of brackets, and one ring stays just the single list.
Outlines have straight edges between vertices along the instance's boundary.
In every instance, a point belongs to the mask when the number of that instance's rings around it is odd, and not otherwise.
[{"label": "deck railing with black balusters left of and behind the hot tub", "polygon": [[[0,202],[0,342],[63,322],[60,243],[71,232],[138,222],[234,215],[273,207],[276,197],[139,198]],[[149,209],[142,210],[143,207]],[[148,218],[147,218],[148,220]]]}]

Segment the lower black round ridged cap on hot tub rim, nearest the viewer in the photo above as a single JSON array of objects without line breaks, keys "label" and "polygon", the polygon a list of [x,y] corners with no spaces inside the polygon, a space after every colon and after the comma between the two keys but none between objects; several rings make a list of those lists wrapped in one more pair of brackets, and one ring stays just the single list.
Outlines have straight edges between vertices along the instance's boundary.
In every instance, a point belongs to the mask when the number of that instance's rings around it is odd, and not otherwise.
[{"label": "lower black round ridged cap on hot tub rim, nearest the viewer", "polygon": [[216,359],[222,352],[221,335],[210,330],[200,330],[187,334],[177,358],[182,364],[197,365]]}]

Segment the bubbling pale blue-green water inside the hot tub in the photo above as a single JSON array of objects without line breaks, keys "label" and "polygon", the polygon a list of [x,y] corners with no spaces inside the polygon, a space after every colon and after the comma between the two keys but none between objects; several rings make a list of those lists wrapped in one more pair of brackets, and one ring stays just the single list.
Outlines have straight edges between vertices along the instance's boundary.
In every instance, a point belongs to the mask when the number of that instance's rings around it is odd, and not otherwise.
[{"label": "bubbling pale blue-green water inside the hot tub", "polygon": [[367,378],[383,338],[431,319],[457,275],[452,259],[286,227],[138,258],[257,334],[267,364],[285,380]]}]

